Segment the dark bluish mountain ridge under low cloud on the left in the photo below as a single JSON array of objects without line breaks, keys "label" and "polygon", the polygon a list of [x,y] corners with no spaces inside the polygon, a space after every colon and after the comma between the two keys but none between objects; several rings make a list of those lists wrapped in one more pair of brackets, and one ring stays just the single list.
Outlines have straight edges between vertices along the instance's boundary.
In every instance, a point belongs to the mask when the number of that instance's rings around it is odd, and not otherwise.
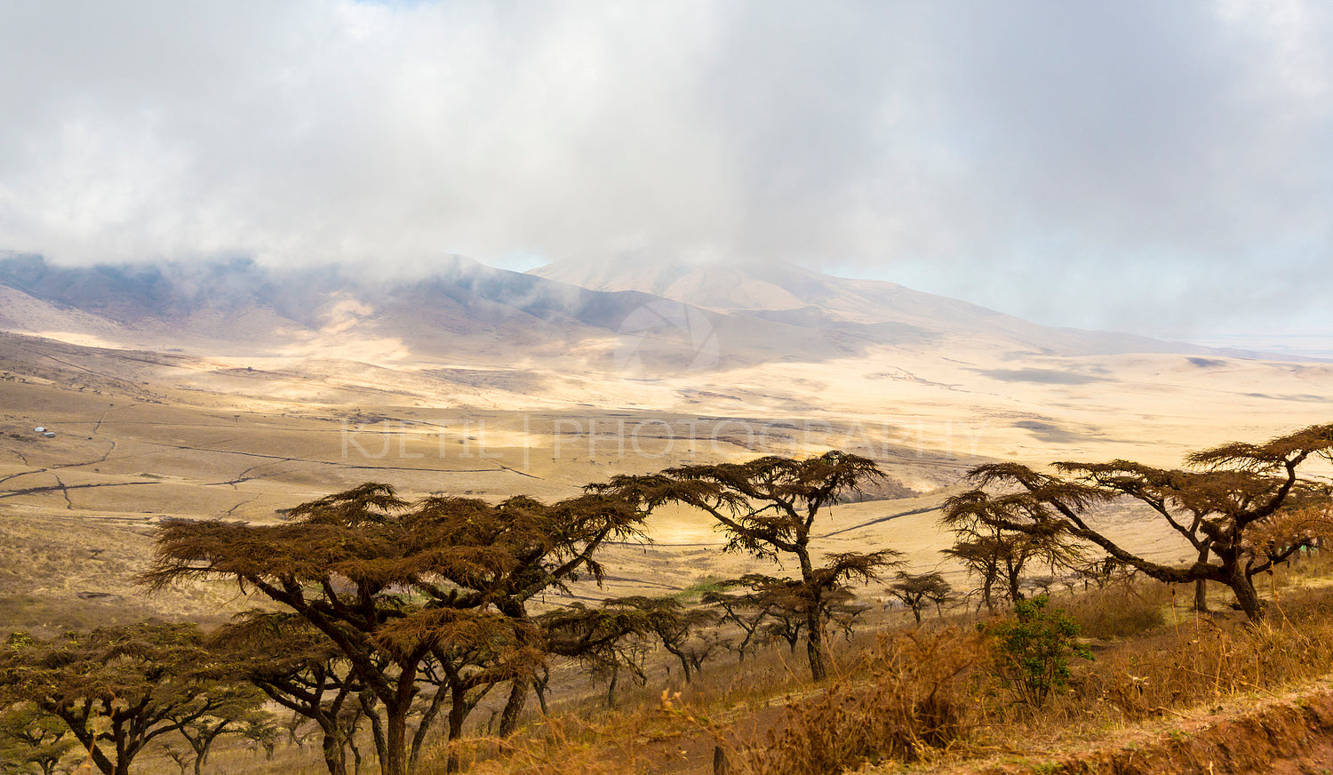
[{"label": "dark bluish mountain ridge under low cloud on the left", "polygon": [[0,328],[127,345],[283,351],[400,339],[419,355],[485,344],[581,340],[649,299],[601,293],[448,257],[419,280],[384,283],[336,268],[215,264],[59,267],[0,260]]}]

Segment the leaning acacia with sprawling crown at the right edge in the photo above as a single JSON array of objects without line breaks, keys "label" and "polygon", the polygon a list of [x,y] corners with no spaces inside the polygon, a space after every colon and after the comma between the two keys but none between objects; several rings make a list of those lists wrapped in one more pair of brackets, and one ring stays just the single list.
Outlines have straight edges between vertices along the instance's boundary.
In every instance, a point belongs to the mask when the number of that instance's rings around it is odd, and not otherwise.
[{"label": "leaning acacia with sprawling crown at the right edge", "polygon": [[[1128,460],[1057,463],[1066,475],[1060,478],[1017,463],[988,464],[969,474],[978,490],[952,499],[948,510],[1025,535],[1060,532],[1089,542],[1161,582],[1220,583],[1250,620],[1258,620],[1264,610],[1254,575],[1314,543],[1308,531],[1278,538],[1273,527],[1294,512],[1326,512],[1333,503],[1326,483],[1300,475],[1318,456],[1333,458],[1333,424],[1262,444],[1236,442],[1194,452],[1186,459],[1188,471]],[[1116,500],[1146,506],[1197,552],[1197,560],[1172,567],[1121,547],[1089,522],[1094,506]]]}]

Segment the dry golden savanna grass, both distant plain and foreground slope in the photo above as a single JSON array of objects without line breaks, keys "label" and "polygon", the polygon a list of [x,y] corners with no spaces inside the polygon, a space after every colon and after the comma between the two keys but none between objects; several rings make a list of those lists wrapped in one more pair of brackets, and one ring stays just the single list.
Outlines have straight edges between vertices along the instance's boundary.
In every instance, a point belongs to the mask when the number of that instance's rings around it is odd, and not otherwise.
[{"label": "dry golden savanna grass, both distant plain and foreground slope", "polygon": [[[1242,772],[1293,751],[1309,764],[1333,727],[1333,700],[1317,688],[1333,670],[1325,624],[1333,603],[1320,555],[1264,578],[1272,614],[1257,627],[1230,611],[1220,587],[1213,612],[1201,615],[1185,584],[1116,576],[1098,587],[1033,571],[1026,594],[1045,588],[1050,608],[1069,611],[1080,648],[1093,656],[1069,656],[1066,686],[1033,707],[1016,700],[993,642],[978,631],[1010,616],[1008,604],[978,614],[977,598],[966,596],[976,579],[940,554],[954,542],[940,510],[969,487],[962,476],[974,466],[1121,455],[1178,466],[1193,448],[1262,440],[1318,420],[1309,416],[1318,396],[1292,392],[1292,380],[1324,390],[1314,373],[1321,364],[1124,356],[1114,380],[1070,387],[1050,381],[1048,371],[980,363],[973,353],[972,365],[945,367],[950,383],[926,384],[916,376],[921,369],[896,365],[869,390],[858,381],[868,379],[864,363],[854,373],[836,364],[817,373],[766,364],[732,375],[730,387],[712,376],[709,390],[653,383],[636,396],[621,383],[607,388],[624,391],[617,400],[581,402],[579,385],[501,385],[509,377],[491,365],[404,369],[399,379],[344,360],[207,359],[13,335],[4,345],[5,634],[47,639],[141,620],[211,630],[247,608],[276,610],[225,579],[148,594],[137,578],[165,524],[280,526],[292,507],[365,482],[392,484],[408,499],[556,502],[617,475],[832,448],[865,455],[886,476],[822,511],[817,552],[892,548],[901,552],[894,572],[937,571],[954,590],[917,627],[892,603],[892,575],[854,584],[857,604],[844,612],[854,626],[834,628],[832,678],[817,684],[801,651],[774,634],[756,640],[744,660],[713,648],[688,683],[678,660],[657,647],[636,647],[639,672],[621,674],[617,686],[577,659],[552,659],[548,712],[529,703],[519,731],[501,739],[503,692],[484,698],[463,743],[448,747],[443,732],[425,739],[421,772],[443,772],[451,751],[480,772],[710,772],[722,760],[729,772],[774,774]],[[889,383],[904,392],[868,410]],[[35,434],[39,426],[55,438]],[[1193,560],[1190,547],[1142,507],[1105,506],[1096,516],[1132,552],[1166,564]],[[692,610],[722,590],[721,580],[792,571],[745,551],[722,552],[724,543],[697,510],[656,508],[643,538],[600,548],[601,584],[580,579],[568,592],[544,595],[540,607],[651,595]],[[726,624],[718,632],[736,636]],[[357,735],[363,771],[373,771],[371,732]],[[91,766],[71,755],[61,767],[80,764]],[[185,764],[149,747],[133,771],[177,767]],[[280,728],[272,758],[224,735],[203,771],[325,768],[311,724],[297,724]]]}]

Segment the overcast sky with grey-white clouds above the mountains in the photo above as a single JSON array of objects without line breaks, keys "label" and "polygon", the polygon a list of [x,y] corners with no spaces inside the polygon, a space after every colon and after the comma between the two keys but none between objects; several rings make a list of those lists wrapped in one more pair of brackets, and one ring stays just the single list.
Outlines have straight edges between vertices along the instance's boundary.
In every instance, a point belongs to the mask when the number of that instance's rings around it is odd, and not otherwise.
[{"label": "overcast sky with grey-white clouds above the mountains", "polygon": [[780,259],[1333,333],[1320,0],[0,0],[0,249]]}]

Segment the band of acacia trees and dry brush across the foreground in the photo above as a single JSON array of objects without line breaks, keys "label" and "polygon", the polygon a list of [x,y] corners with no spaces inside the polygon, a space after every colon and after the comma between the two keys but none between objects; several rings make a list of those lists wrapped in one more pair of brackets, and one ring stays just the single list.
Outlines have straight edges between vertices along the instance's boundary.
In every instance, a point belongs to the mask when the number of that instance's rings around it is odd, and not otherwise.
[{"label": "band of acacia trees and dry brush across the foreground", "polygon": [[[313,730],[331,775],[838,772],[952,762],[1016,735],[1058,743],[1272,692],[1333,672],[1324,560],[1289,567],[1329,524],[1329,483],[1305,468],[1330,450],[1333,426],[1317,426],[1198,452],[1189,471],[982,466],[977,490],[944,508],[957,536],[946,554],[977,583],[964,598],[938,574],[890,576],[890,547],[816,554],[825,507],[880,475],[842,452],[617,476],[552,504],[409,503],[371,483],[277,526],[169,523],[141,583],[231,579],[253,610],[207,634],[15,634],[0,654],[4,766],[200,772],[228,736],[275,756],[283,708],[288,740]],[[1100,532],[1098,510],[1117,499],[1146,504],[1197,562],[1162,566]],[[709,514],[730,551],[774,575],[686,596],[560,598],[599,583],[601,547],[641,538],[663,504]],[[874,622],[852,583],[882,584],[910,618]],[[1208,615],[1209,584],[1242,615]],[[483,707],[491,718],[469,723]]]}]

